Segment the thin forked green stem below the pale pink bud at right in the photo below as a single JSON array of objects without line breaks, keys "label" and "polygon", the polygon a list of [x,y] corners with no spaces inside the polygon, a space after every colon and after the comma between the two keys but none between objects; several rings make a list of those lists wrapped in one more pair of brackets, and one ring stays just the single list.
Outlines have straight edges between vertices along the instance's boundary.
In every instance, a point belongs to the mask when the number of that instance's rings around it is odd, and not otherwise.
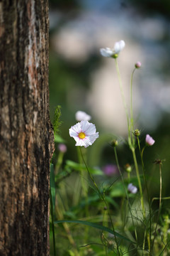
[{"label": "thin forked green stem below the pale pink bud at right", "polygon": [[[137,137],[137,144],[138,144],[138,148],[139,148],[139,151],[140,151],[140,158],[141,158],[141,162],[142,162],[143,177],[144,177],[144,180],[145,180],[145,186],[146,186],[146,189],[147,189],[147,200],[148,200],[148,203],[149,203],[149,245],[151,245],[151,224],[152,224],[152,221],[151,221],[151,202],[150,202],[149,190],[148,190],[148,186],[147,186],[147,178],[145,176],[145,165],[144,165],[144,161],[143,161],[143,152],[144,152],[144,149],[145,149],[146,146],[144,146],[142,151],[141,151],[139,137]],[[145,244],[145,239],[144,239],[144,244]],[[149,255],[151,255],[150,248],[149,248]]]}]

